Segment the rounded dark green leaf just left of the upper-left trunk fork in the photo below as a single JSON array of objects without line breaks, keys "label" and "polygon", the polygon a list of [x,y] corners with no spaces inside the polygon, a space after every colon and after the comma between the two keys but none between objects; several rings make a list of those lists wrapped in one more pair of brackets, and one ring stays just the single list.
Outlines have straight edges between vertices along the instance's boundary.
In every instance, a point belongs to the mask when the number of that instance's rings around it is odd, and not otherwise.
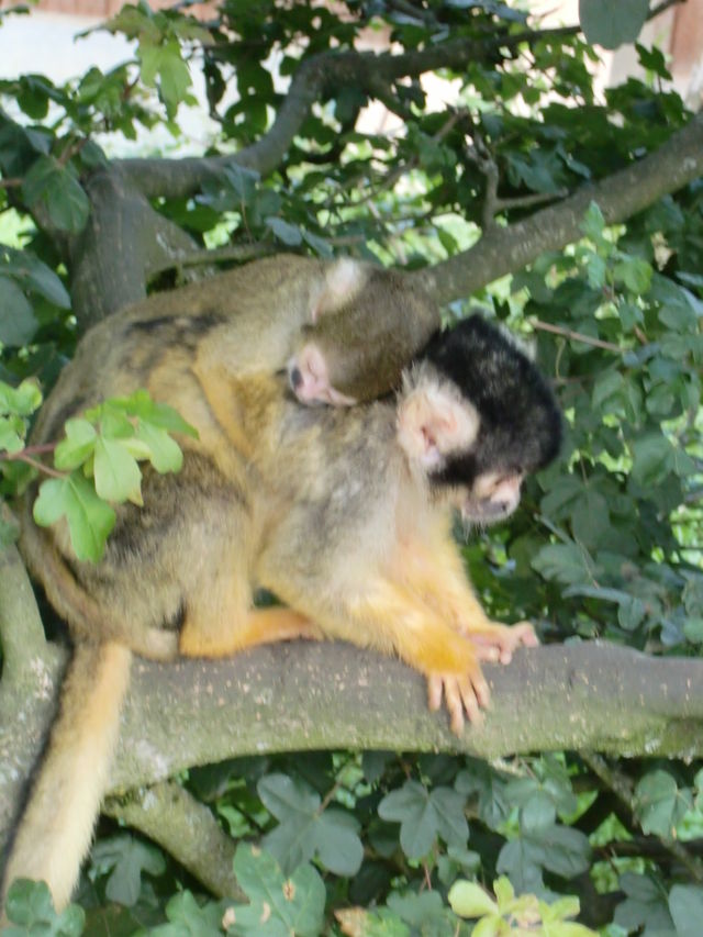
[{"label": "rounded dark green leaf just left of the upper-left trunk fork", "polygon": [[90,201],[76,177],[52,156],[40,156],[22,182],[30,208],[42,203],[60,231],[80,234],[90,213]]}]

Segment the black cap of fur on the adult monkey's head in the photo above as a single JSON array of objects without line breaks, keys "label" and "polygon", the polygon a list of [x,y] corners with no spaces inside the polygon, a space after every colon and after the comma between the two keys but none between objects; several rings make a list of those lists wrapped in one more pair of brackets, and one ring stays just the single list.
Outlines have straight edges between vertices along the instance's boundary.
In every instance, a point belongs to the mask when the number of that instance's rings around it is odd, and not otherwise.
[{"label": "black cap of fur on the adult monkey's head", "polygon": [[450,458],[436,482],[467,483],[489,471],[531,472],[559,451],[561,414],[547,381],[511,338],[480,315],[437,332],[422,358],[479,412],[471,451]]}]

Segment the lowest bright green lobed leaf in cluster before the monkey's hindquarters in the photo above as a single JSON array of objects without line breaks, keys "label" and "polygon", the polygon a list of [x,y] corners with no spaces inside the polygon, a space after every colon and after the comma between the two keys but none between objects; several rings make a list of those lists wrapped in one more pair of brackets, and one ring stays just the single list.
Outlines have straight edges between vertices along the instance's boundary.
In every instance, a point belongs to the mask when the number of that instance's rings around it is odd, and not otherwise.
[{"label": "lowest bright green lobed leaf in cluster before the monkey's hindquarters", "polygon": [[34,520],[48,527],[66,517],[70,543],[78,559],[98,562],[115,522],[115,513],[79,472],[42,482],[34,502]]}]

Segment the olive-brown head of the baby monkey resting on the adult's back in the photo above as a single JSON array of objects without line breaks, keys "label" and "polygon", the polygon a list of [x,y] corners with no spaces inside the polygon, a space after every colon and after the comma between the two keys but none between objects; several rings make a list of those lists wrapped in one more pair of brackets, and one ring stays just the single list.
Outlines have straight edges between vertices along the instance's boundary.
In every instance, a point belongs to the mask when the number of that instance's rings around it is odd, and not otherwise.
[{"label": "olive-brown head of the baby monkey resting on the adult's back", "polygon": [[436,303],[408,275],[338,260],[288,361],[291,390],[336,406],[381,397],[438,325]]}]

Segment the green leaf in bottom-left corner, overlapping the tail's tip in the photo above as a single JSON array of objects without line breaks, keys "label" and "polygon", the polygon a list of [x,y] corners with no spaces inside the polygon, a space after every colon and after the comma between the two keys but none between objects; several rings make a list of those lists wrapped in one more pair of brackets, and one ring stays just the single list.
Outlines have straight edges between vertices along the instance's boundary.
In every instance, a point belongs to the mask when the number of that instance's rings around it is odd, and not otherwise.
[{"label": "green leaf in bottom-left corner, overlapping the tail's tip", "polygon": [[57,914],[46,882],[18,879],[11,885],[5,913],[19,927],[5,927],[3,937],[79,937],[86,915],[82,907],[69,904]]}]

